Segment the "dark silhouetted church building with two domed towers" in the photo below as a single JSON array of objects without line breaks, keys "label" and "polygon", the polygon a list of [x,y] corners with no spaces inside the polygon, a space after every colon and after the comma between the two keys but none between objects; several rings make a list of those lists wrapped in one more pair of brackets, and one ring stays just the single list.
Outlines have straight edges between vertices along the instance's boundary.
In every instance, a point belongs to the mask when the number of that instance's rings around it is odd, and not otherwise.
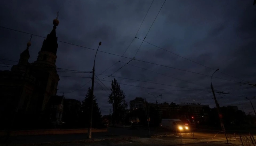
[{"label": "dark silhouetted church building with two domed towers", "polygon": [[[29,63],[29,47],[20,54],[17,65],[0,71],[0,116],[5,128],[34,125],[35,128],[61,124],[63,96],[57,96],[60,80],[56,70],[59,20],[47,35],[37,60]],[[18,126],[19,125],[19,126]]]}]

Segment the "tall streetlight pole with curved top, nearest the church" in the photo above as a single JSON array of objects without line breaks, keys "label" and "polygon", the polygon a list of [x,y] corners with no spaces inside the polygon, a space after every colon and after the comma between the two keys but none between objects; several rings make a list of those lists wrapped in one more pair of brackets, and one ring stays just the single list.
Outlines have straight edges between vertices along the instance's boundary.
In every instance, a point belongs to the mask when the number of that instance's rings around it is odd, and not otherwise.
[{"label": "tall streetlight pole with curved top, nearest the church", "polygon": [[[99,42],[99,46],[101,45],[101,42]],[[98,49],[99,49],[99,46],[98,46]],[[96,59],[96,55],[97,55],[97,52],[98,52],[98,49],[95,53],[95,57],[94,57],[94,63],[93,63],[93,78],[92,78],[92,82],[91,82],[91,95],[90,95],[90,98],[91,98],[91,115],[90,115],[90,126],[88,128],[88,138],[91,139],[91,128],[92,128],[92,125],[93,125],[93,91],[94,91],[94,75],[95,75],[95,59]]]}]

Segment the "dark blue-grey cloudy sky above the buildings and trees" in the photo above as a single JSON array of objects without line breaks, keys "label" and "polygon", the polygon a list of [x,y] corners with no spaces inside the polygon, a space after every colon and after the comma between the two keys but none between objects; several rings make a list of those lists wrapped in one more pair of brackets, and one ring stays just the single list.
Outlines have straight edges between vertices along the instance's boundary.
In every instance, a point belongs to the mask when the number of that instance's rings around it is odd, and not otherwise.
[{"label": "dark blue-grey cloudy sky above the buildings and trees", "polygon": [[34,36],[29,62],[34,62],[42,37],[52,30],[52,20],[59,11],[56,33],[62,42],[58,42],[56,65],[69,72],[58,69],[58,95],[64,93],[67,98],[83,100],[91,86],[86,77],[92,74],[81,71],[92,71],[95,49],[101,41],[95,61],[97,79],[101,81],[96,80],[94,94],[103,114],[111,108],[108,95],[113,77],[120,82],[127,101],[143,97],[154,102],[155,98],[148,95],[151,93],[162,94],[159,103],[194,102],[215,107],[210,76],[216,69],[219,71],[212,78],[215,92],[229,93],[216,93],[220,105],[237,105],[250,112],[245,96],[256,95],[256,87],[248,85],[256,84],[253,0],[151,3],[152,0],[2,1],[0,69],[9,70],[5,66],[17,64],[30,34]]}]

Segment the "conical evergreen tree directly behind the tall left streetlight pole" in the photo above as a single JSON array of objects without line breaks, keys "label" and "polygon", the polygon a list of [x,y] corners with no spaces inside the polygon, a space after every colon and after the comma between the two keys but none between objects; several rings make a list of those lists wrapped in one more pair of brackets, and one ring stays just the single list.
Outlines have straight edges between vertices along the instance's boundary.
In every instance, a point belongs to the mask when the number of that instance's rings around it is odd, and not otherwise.
[{"label": "conical evergreen tree directly behind the tall left streetlight pole", "polygon": [[[82,108],[81,108],[81,124],[84,125],[83,127],[89,127],[89,117],[90,117],[90,94],[91,89],[89,88],[84,100],[82,101]],[[93,95],[93,127],[100,128],[102,127],[102,115],[101,111],[99,111],[98,104],[96,103],[95,95]]]}]

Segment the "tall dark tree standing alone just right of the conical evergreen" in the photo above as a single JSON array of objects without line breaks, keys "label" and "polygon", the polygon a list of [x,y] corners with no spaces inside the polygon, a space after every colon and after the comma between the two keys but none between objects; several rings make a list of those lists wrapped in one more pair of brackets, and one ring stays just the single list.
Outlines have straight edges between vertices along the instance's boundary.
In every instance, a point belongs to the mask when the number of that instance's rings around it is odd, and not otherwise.
[{"label": "tall dark tree standing alone just right of the conical evergreen", "polygon": [[124,122],[125,111],[128,107],[128,103],[125,101],[125,94],[120,89],[120,84],[114,78],[111,82],[111,94],[109,95],[109,104],[113,107],[113,124]]}]

